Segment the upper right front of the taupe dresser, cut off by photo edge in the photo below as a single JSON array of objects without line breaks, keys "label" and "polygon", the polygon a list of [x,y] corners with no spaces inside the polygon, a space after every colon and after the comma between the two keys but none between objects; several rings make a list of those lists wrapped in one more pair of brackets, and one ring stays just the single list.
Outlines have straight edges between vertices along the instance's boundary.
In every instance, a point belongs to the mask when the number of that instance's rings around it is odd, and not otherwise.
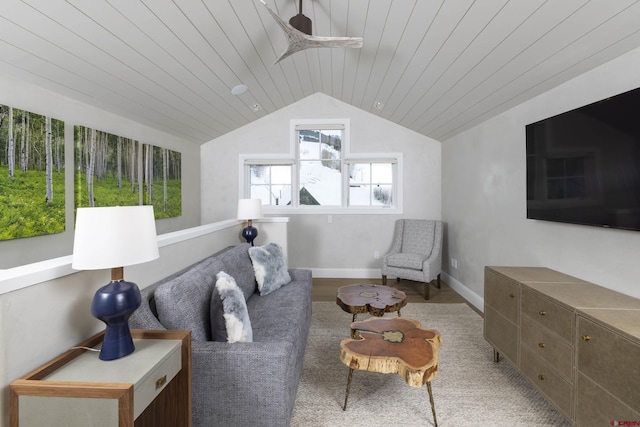
[{"label": "upper right front of the taupe dresser, cut off by photo edge", "polygon": [[578,317],[578,370],[640,412],[640,346]]}]

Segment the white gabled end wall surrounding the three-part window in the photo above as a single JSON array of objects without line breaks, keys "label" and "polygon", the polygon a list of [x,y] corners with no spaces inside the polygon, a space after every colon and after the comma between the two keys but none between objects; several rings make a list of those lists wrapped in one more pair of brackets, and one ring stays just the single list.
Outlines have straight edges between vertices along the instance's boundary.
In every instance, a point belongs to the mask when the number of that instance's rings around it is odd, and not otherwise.
[{"label": "white gabled end wall surrounding the three-part window", "polygon": [[[236,215],[239,156],[286,154],[291,119],[350,119],[351,152],[400,152],[404,157],[404,213],[289,216],[289,264],[316,277],[379,277],[380,260],[399,217],[441,218],[440,143],[335,98],[316,93],[202,146],[202,221]],[[260,235],[256,244],[263,244]]]}]

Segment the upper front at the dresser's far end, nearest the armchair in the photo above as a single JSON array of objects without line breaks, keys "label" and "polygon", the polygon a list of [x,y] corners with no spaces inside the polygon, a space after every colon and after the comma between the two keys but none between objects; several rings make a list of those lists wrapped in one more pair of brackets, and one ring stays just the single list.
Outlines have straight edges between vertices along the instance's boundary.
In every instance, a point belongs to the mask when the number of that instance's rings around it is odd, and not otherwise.
[{"label": "upper front at the dresser's far end, nearest the armchair", "polygon": [[485,268],[484,302],[518,324],[520,314],[520,285],[490,268]]}]

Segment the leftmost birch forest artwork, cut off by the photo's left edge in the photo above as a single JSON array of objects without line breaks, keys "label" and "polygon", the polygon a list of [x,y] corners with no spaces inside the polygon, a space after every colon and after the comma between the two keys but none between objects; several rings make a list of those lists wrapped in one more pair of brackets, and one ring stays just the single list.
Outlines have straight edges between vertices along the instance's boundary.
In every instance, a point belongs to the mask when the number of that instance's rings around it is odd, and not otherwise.
[{"label": "leftmost birch forest artwork, cut off by the photo's left edge", "polygon": [[0,105],[0,240],[65,230],[64,122]]}]

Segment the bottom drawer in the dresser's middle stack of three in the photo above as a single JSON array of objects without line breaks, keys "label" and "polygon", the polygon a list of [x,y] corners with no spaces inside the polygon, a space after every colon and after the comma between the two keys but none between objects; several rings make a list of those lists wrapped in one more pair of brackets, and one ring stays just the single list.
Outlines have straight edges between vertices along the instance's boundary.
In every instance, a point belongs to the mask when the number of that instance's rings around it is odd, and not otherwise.
[{"label": "bottom drawer in the dresser's middle stack of three", "polygon": [[520,370],[560,412],[571,419],[573,387],[570,383],[526,349],[520,352]]}]

